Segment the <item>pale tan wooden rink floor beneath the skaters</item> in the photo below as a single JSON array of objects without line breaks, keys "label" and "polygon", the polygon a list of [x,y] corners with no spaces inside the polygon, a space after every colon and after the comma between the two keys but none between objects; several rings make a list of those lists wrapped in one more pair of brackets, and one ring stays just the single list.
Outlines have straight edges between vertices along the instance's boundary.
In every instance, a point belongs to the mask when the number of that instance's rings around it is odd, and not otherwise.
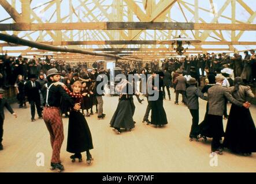
[{"label": "pale tan wooden rink floor beneath the skaters", "polygon": [[[256,153],[244,157],[225,150],[219,155],[218,166],[210,166],[210,140],[203,143],[200,140],[190,142],[191,115],[186,106],[175,105],[175,93],[172,100],[165,100],[164,107],[168,125],[155,128],[142,123],[147,101],[139,104],[136,97],[135,129],[116,135],[109,127],[118,97],[103,97],[103,112],[105,120],[97,120],[97,114],[86,117],[91,129],[94,149],[91,150],[94,162],[86,164],[86,153],[83,162],[72,163],[69,152],[66,152],[68,118],[63,118],[65,140],[61,148],[61,161],[65,172],[256,172]],[[142,96],[140,96],[141,98]],[[200,121],[206,110],[206,101],[200,99]],[[50,136],[43,120],[31,122],[30,108],[18,109],[15,119],[5,112],[3,147],[0,151],[0,172],[55,172],[50,171],[51,146]],[[228,105],[228,110],[230,105]],[[256,106],[250,108],[256,122]],[[95,107],[94,107],[95,112]],[[224,120],[224,128],[227,120]],[[255,143],[256,144],[256,143]],[[37,154],[44,155],[44,166],[37,166]]]}]

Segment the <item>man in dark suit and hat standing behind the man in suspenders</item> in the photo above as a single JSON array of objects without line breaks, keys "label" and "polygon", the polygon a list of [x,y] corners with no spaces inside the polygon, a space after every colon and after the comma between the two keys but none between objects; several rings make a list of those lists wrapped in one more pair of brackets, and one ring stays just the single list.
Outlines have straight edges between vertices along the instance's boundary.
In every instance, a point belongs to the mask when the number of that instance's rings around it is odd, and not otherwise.
[{"label": "man in dark suit and hat standing behind the man in suspenders", "polygon": [[29,76],[30,81],[25,83],[24,93],[28,99],[31,109],[31,121],[35,121],[35,107],[38,112],[38,116],[42,119],[42,108],[40,107],[40,89],[41,85],[36,81],[36,75],[32,74]]}]

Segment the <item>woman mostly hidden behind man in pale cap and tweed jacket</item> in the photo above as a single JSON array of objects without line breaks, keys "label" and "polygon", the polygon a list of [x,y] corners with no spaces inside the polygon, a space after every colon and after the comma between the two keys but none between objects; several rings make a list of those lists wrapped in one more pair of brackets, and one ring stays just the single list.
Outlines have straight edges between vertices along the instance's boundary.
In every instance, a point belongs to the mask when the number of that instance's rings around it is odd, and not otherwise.
[{"label": "woman mostly hidden behind man in pale cap and tweed jacket", "polygon": [[[208,84],[203,87],[202,93],[207,93],[208,90],[210,89],[210,87],[212,87],[212,86],[214,86],[216,84],[215,76],[213,74],[209,74],[207,79],[208,79],[208,81],[207,81]],[[199,135],[201,135],[201,137],[203,138],[204,141],[207,140],[206,137],[213,137],[213,133],[211,132],[211,129],[210,129],[210,124],[207,121],[208,108],[209,108],[209,104],[207,102],[205,118],[201,122],[201,124],[198,125]]]}]

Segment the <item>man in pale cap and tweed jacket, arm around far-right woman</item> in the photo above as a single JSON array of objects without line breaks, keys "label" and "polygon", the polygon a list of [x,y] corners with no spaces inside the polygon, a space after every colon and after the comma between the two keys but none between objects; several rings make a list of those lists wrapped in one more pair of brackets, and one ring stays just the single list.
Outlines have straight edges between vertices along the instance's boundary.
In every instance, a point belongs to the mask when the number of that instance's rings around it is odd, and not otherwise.
[{"label": "man in pale cap and tweed jacket, arm around far-right woman", "polygon": [[243,104],[242,102],[237,101],[235,98],[232,97],[231,93],[228,92],[227,88],[222,87],[222,82],[224,81],[224,79],[224,76],[217,75],[216,85],[214,85],[208,90],[208,121],[210,131],[212,132],[213,135],[212,152],[216,152],[217,154],[222,154],[220,140],[224,136],[222,116],[224,115],[225,110],[225,99],[228,99],[228,101],[230,101],[232,104],[235,104],[240,107],[250,107],[250,104]]}]

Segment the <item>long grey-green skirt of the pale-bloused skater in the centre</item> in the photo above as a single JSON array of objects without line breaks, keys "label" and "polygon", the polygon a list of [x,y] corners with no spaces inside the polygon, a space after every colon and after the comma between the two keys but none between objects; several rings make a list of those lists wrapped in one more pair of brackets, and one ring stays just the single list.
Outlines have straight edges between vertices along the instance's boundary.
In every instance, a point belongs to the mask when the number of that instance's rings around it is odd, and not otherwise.
[{"label": "long grey-green skirt of the pale-bloused skater in the centre", "polygon": [[110,121],[110,127],[114,128],[134,128],[133,112],[135,112],[135,106],[132,104],[132,100],[120,100],[117,105],[116,112]]}]

